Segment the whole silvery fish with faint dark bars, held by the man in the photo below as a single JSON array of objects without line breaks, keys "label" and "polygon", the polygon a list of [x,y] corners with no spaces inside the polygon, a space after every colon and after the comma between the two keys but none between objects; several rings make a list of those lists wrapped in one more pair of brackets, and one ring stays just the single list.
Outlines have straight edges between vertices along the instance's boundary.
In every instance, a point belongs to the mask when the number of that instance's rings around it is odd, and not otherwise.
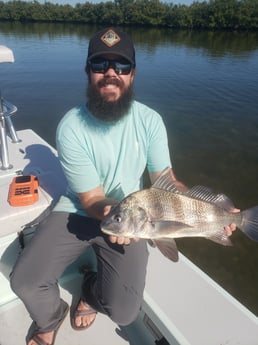
[{"label": "whole silvery fish with faint dark bars, held by the man", "polygon": [[204,237],[232,245],[224,227],[235,223],[258,241],[258,206],[233,213],[233,202],[210,188],[178,190],[171,169],[165,169],[150,188],[129,194],[102,220],[103,233],[146,239],[171,261],[178,261],[176,238]]}]

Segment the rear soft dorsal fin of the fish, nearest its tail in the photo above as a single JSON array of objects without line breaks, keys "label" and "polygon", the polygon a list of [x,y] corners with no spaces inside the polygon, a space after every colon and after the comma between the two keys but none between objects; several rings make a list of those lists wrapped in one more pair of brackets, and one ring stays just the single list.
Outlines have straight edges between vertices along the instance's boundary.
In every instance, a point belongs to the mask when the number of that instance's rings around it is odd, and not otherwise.
[{"label": "rear soft dorsal fin of the fish, nearest its tail", "polygon": [[189,189],[186,193],[194,199],[209,202],[227,211],[232,211],[235,208],[232,201],[224,194],[215,194],[211,189],[203,186],[194,186]]}]

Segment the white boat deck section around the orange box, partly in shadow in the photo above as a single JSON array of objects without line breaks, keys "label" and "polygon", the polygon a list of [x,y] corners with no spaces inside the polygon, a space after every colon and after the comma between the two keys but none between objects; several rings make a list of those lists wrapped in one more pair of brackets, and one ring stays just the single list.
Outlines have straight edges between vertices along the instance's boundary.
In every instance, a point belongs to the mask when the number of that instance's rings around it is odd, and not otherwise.
[{"label": "white boat deck section around the orange box, partly in shadow", "polygon": [[[19,143],[8,140],[12,168],[0,169],[1,199],[4,201],[0,210],[0,237],[15,233],[21,224],[33,221],[59,198],[66,186],[55,150],[31,130],[19,131],[18,135]],[[39,179],[39,201],[33,207],[13,207],[7,202],[9,185],[19,172],[36,175]]]}]

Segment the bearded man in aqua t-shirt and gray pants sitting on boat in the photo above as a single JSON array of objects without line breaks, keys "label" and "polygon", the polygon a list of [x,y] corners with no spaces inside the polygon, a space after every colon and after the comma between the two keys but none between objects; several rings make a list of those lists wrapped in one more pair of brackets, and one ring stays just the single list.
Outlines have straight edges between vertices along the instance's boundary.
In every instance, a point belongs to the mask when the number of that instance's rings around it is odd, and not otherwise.
[{"label": "bearded man in aqua t-shirt and gray pants sitting on boat", "polygon": [[[153,182],[172,167],[160,115],[133,99],[135,67],[134,45],[124,32],[106,28],[90,40],[87,103],[71,109],[57,129],[67,193],[40,224],[11,276],[35,325],[28,345],[54,344],[69,309],[58,278],[89,246],[97,270],[84,272],[72,327],[88,328],[97,312],[128,325],[141,307],[146,241],[107,236],[100,229],[113,205],[142,188],[146,168]],[[172,168],[171,176],[182,188]]]}]

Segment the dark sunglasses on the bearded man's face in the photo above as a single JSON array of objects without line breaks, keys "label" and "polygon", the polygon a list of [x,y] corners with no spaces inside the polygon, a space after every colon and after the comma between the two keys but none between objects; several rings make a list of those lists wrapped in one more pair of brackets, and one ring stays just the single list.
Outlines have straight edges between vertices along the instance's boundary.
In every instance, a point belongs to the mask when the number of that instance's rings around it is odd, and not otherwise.
[{"label": "dark sunglasses on the bearded man's face", "polygon": [[88,61],[88,67],[93,73],[106,73],[109,68],[113,68],[116,74],[129,74],[134,67],[128,61],[115,61],[115,60],[92,60]]}]

